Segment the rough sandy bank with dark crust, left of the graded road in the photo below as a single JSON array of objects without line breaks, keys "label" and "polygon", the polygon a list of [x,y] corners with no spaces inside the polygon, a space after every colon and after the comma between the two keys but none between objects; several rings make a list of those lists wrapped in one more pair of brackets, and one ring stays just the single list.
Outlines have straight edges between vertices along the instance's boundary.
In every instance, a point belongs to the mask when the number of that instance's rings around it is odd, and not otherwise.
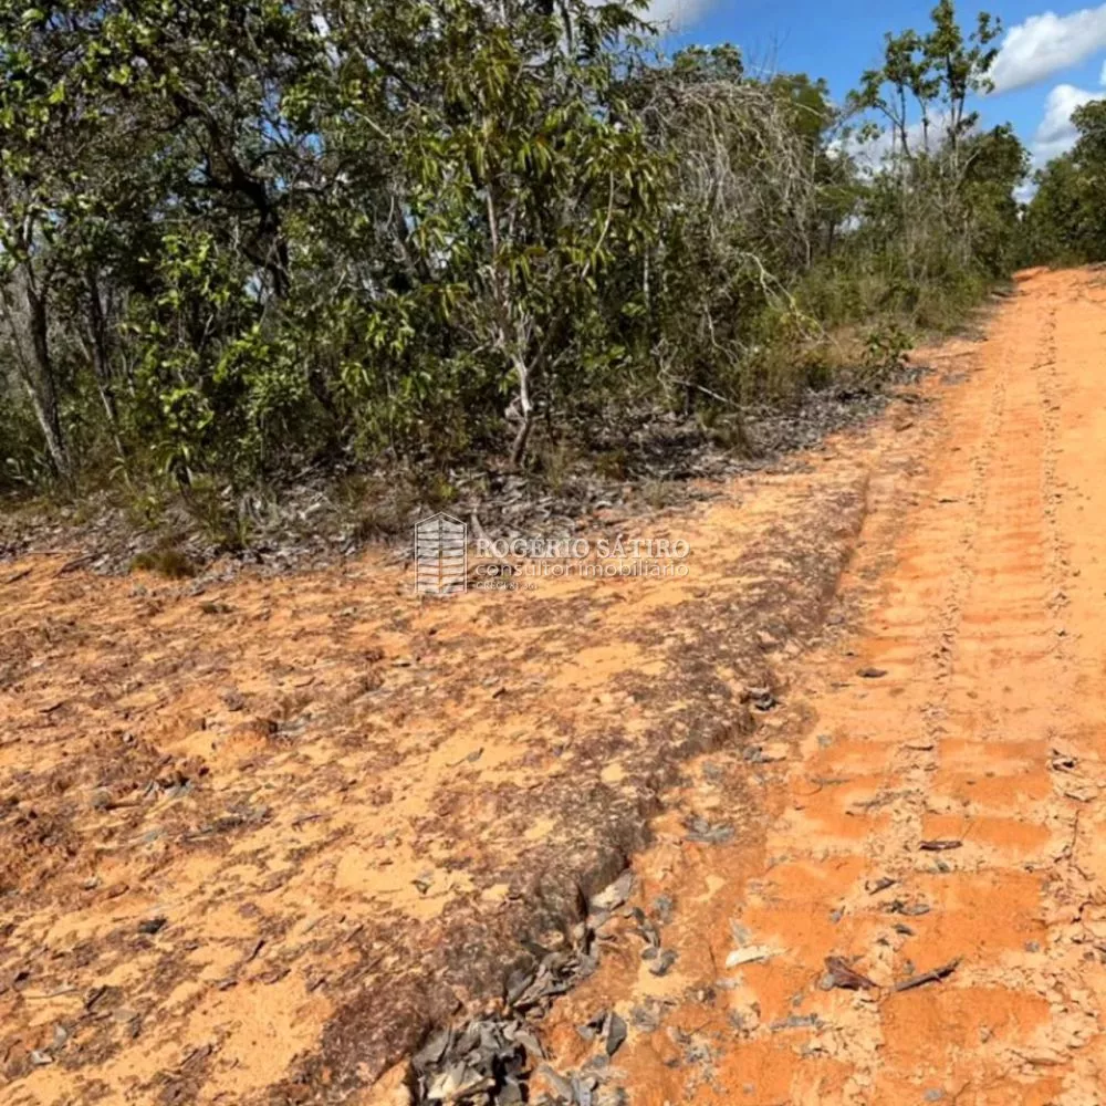
[{"label": "rough sandy bank with dark crust, left of the graded road", "polygon": [[668,578],[7,564],[0,1100],[346,1100],[501,1003],[818,630],[867,467],[791,469],[602,520],[688,542]]}]

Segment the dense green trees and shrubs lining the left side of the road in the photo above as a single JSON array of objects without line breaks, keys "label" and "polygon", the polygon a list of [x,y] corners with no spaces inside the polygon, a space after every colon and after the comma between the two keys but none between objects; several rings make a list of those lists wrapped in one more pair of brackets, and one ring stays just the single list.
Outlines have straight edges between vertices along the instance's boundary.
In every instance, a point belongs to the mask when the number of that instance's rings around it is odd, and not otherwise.
[{"label": "dense green trees and shrubs lining the left side of the road", "polygon": [[894,359],[1015,260],[995,32],[941,0],[836,107],[629,0],[0,0],[0,487],[519,466]]}]

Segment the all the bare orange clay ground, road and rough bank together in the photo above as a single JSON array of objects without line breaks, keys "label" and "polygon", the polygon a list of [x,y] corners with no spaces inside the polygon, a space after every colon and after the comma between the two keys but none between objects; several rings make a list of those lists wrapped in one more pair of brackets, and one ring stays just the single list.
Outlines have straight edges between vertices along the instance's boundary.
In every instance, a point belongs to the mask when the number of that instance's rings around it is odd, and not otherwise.
[{"label": "all the bare orange clay ground, road and rough bank together", "polygon": [[684,578],[6,565],[0,1102],[403,1102],[627,857],[678,958],[608,922],[553,1068],[614,1008],[632,1104],[1098,1102],[1104,331],[1029,274],[868,430],[605,520]]}]

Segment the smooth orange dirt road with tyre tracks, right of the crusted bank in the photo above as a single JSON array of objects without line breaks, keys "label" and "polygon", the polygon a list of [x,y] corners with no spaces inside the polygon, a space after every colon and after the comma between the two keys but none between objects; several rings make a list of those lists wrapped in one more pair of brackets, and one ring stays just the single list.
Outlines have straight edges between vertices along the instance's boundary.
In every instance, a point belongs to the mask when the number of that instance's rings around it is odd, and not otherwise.
[{"label": "smooth orange dirt road with tyre tracks, right of the crusted bank", "polygon": [[921,470],[873,479],[857,617],[791,672],[762,814],[703,846],[674,811],[635,864],[675,967],[612,935],[555,1067],[614,1009],[598,1074],[643,1106],[1106,1102],[1104,334],[1100,276],[1023,276]]}]

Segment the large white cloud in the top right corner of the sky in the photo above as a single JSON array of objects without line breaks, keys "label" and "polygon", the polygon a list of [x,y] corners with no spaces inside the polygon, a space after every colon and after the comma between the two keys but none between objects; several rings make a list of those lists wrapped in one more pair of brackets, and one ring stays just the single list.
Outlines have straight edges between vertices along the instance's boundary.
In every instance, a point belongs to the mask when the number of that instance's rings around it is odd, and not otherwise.
[{"label": "large white cloud in the top right corner of the sky", "polygon": [[1012,27],[991,69],[995,92],[1036,84],[1106,49],[1106,3],[1070,15],[1046,11]]}]

